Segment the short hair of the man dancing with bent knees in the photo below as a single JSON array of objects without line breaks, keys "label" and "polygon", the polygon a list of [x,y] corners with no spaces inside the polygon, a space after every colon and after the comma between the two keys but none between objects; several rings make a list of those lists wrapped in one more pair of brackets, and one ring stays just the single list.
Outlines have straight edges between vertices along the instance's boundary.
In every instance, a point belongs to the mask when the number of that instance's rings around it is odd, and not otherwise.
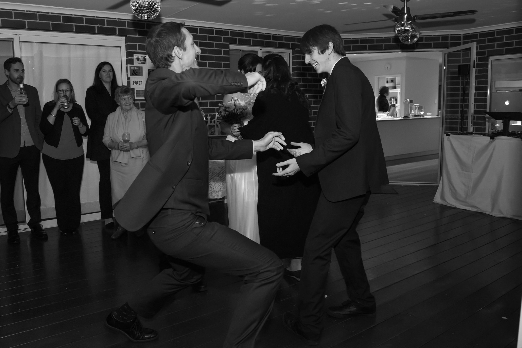
[{"label": "short hair of the man dancing with bent knees", "polygon": [[170,68],[174,62],[172,51],[180,47],[186,51],[186,35],[181,31],[185,23],[167,22],[150,29],[145,41],[145,48],[150,61],[156,68]]}]

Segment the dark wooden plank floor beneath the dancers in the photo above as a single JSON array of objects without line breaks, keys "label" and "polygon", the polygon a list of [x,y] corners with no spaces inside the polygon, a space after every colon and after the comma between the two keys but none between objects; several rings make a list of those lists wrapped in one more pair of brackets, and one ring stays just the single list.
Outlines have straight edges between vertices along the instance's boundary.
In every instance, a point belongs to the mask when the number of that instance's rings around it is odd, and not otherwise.
[{"label": "dark wooden plank floor beneath the dancers", "polygon": [[[433,203],[434,187],[373,195],[359,226],[377,313],[325,318],[321,347],[515,347],[522,292],[522,221]],[[103,326],[138,284],[158,272],[147,237],[111,241],[101,222],[78,236],[8,245],[0,237],[0,347],[220,347],[241,280],[209,271],[206,293],[187,289],[144,323],[159,331],[133,344]],[[347,297],[338,265],[326,303]],[[256,347],[305,347],[281,324],[298,282],[284,279]]]}]

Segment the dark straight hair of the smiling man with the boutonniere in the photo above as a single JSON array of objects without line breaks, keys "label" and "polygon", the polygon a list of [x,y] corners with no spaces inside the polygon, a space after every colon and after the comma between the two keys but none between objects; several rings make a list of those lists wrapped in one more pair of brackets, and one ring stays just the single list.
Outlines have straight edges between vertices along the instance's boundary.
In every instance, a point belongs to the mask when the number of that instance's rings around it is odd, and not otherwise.
[{"label": "dark straight hair of the smiling man with the boutonniere", "polygon": [[334,52],[345,56],[346,52],[342,46],[342,38],[337,29],[327,24],[313,27],[305,32],[301,38],[301,52],[304,54],[312,53],[312,49],[316,48],[317,52],[323,54],[328,49],[328,43],[334,45]]}]

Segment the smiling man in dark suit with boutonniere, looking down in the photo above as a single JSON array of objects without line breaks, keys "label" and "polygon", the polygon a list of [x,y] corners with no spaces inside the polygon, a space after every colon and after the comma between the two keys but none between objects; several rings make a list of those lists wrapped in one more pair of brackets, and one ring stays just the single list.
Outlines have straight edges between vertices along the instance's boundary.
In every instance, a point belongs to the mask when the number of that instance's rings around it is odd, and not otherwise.
[{"label": "smiling man in dark suit with boutonniere, looking down", "polygon": [[[330,307],[328,314],[345,318],[375,313],[375,298],[361,258],[355,227],[364,214],[370,193],[388,191],[388,176],[381,138],[375,122],[373,88],[362,71],[352,65],[334,27],[317,26],[301,39],[305,62],[317,73],[329,73],[315,124],[315,148],[305,143],[293,151],[296,157],[277,164],[274,175],[288,176],[300,170],[318,173],[322,194],[306,239],[299,316],[283,316],[284,326],[308,344],[318,344],[323,329],[323,298],[335,249],[346,282],[349,301]],[[288,167],[282,169],[282,166]]]}]

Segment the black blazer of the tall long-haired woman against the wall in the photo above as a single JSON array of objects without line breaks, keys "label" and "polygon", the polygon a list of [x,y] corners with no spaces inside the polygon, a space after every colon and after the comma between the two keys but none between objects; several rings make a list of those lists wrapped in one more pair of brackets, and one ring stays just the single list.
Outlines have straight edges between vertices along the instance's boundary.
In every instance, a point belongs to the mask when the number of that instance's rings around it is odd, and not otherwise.
[{"label": "black blazer of the tall long-haired woman against the wall", "polygon": [[103,131],[105,122],[110,113],[116,111],[118,104],[114,100],[114,90],[111,94],[102,85],[100,87],[91,86],[85,93],[85,111],[91,120],[89,137],[87,138],[86,158],[92,161],[108,160],[111,158],[111,150],[103,145]]}]

